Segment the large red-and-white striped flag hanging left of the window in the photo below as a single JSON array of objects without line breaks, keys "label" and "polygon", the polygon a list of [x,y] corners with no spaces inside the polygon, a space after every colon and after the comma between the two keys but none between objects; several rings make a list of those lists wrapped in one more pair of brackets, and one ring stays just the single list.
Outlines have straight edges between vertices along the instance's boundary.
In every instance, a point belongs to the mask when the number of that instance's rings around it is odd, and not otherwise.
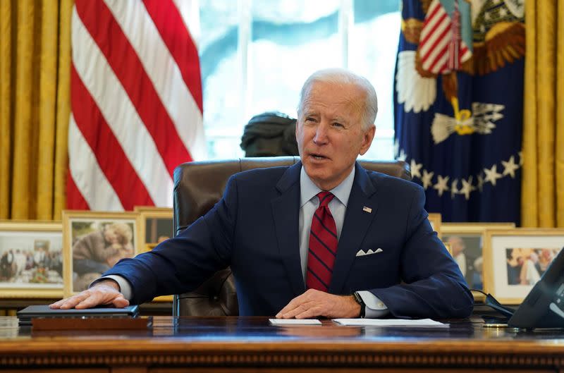
[{"label": "large red-and-white striped flag hanging left of the window", "polygon": [[204,157],[190,10],[186,0],[75,1],[67,208],[170,207],[174,168]]}]

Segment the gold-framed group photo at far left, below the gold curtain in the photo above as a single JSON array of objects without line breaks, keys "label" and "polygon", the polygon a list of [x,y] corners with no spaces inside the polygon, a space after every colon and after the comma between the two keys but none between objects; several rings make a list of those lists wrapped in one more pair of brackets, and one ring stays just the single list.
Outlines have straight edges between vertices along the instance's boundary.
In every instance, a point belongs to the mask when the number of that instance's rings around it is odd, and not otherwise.
[{"label": "gold-framed group photo at far left, below the gold curtain", "polygon": [[0,222],[0,297],[62,298],[61,222]]}]

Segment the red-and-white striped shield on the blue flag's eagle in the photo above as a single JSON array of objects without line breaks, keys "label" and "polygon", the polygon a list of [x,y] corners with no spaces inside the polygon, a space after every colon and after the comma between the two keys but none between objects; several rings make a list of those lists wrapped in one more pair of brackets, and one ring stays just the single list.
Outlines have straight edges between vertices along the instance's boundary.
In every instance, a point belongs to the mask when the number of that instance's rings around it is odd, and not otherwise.
[{"label": "red-and-white striped shield on the blue flag's eagle", "polygon": [[453,19],[448,16],[439,0],[431,2],[425,16],[419,36],[419,59],[423,70],[430,73],[453,71],[453,66],[462,66],[463,62],[472,57],[472,51],[460,39],[458,0],[454,0],[454,5]]}]

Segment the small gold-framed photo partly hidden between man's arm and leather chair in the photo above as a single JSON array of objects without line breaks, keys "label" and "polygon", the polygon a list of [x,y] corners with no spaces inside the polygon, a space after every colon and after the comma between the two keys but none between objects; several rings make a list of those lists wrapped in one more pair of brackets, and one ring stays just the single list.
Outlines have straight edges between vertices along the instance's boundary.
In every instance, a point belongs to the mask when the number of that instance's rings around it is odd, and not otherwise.
[{"label": "small gold-framed photo partly hidden between man's arm and leather chair", "polygon": [[173,236],[172,209],[167,211],[142,211],[140,214],[140,252],[152,250],[152,247]]}]

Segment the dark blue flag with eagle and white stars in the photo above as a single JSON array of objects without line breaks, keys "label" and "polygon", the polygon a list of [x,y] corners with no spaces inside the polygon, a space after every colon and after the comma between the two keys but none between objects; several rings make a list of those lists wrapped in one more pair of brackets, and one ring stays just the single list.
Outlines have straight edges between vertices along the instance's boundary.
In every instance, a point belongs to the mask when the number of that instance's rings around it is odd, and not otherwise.
[{"label": "dark blue flag with eagle and white stars", "polygon": [[524,0],[403,0],[396,158],[443,221],[520,220]]}]

